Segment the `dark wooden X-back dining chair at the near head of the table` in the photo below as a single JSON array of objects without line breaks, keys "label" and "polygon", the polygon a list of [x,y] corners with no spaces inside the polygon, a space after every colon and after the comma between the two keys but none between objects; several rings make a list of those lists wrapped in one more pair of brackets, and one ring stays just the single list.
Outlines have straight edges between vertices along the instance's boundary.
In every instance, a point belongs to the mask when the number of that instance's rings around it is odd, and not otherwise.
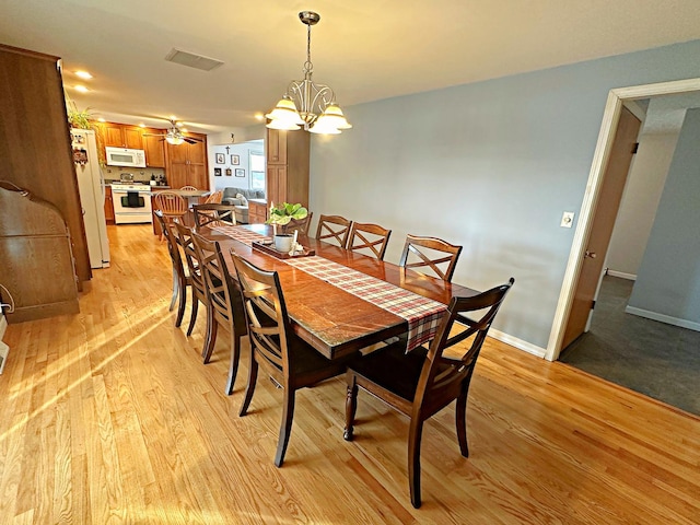
[{"label": "dark wooden X-back dining chair at the near head of the table", "polygon": [[[455,422],[459,451],[469,456],[467,445],[467,394],[483,340],[515,280],[469,298],[453,298],[430,348],[406,353],[399,341],[381,351],[354,360],[348,366],[345,439],[352,441],[358,408],[358,387],[369,392],[410,419],[408,431],[408,479],[412,505],[420,498],[420,444],[423,422],[457,400]],[[481,313],[486,310],[486,313]],[[477,318],[465,314],[479,315]],[[457,322],[457,323],[455,323]],[[470,339],[467,343],[457,343]],[[455,348],[456,347],[456,348]],[[451,348],[450,357],[443,352]],[[458,351],[460,357],[453,355]]]}]

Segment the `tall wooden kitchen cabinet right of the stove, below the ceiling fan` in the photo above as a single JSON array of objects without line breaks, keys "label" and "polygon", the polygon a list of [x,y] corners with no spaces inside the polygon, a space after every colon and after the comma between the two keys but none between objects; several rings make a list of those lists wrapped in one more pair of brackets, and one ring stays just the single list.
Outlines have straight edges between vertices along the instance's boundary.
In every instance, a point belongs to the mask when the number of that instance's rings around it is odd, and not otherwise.
[{"label": "tall wooden kitchen cabinet right of the stove, below the ceiling fan", "polygon": [[166,147],[166,163],[168,185],[173,188],[194,186],[198,189],[209,189],[209,171],[207,167],[207,136],[187,133],[188,137],[201,139],[194,144]]}]

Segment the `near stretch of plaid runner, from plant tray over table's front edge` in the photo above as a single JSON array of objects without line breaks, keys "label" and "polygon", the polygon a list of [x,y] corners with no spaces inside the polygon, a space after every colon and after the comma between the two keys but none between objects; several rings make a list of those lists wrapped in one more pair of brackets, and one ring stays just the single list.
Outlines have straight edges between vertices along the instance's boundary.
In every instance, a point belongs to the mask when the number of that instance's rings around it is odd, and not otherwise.
[{"label": "near stretch of plaid runner, from plant tray over table's front edge", "polygon": [[284,262],[406,319],[408,322],[407,352],[435,337],[442,316],[447,311],[444,304],[432,299],[423,298],[323,257],[300,257],[285,259]]}]

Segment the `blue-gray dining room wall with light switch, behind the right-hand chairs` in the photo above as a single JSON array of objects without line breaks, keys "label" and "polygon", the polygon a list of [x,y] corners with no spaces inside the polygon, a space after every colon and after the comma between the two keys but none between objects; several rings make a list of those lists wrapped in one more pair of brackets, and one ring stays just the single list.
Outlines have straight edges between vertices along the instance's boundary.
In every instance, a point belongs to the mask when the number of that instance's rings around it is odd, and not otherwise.
[{"label": "blue-gray dining room wall with light switch, behind the right-hand chairs", "polygon": [[[545,348],[608,92],[698,77],[700,40],[346,107],[312,140],[311,209],[463,244],[454,281],[513,276],[494,328]],[[420,72],[417,72],[420,74]],[[334,85],[342,101],[342,86]]]}]

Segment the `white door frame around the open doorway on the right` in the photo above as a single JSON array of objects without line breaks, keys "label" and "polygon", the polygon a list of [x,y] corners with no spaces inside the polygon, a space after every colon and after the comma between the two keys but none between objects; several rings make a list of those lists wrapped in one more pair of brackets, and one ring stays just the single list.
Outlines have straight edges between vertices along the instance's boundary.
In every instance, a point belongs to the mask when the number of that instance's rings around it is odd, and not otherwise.
[{"label": "white door frame around the open doorway on the right", "polygon": [[581,205],[579,223],[576,225],[576,231],[574,232],[571,253],[569,254],[569,262],[567,264],[567,271],[564,272],[563,283],[561,285],[559,302],[557,303],[555,319],[551,332],[549,334],[549,341],[547,342],[545,359],[548,361],[557,360],[561,352],[564,328],[569,320],[569,313],[571,312],[575,287],[579,281],[579,275],[581,273],[581,266],[583,265],[583,255],[591,235],[591,225],[593,224],[593,217],[598,201],[598,192],[603,183],[605,167],[607,166],[608,158],[610,156],[610,148],[617,131],[622,104],[640,98],[675,95],[692,91],[700,91],[700,79],[687,79],[661,82],[657,84],[618,88],[610,90],[608,93],[608,101],[605,105],[605,113],[603,114],[603,124],[600,125],[598,142],[596,143],[595,153],[593,155],[593,164],[591,165],[588,183],[586,184],[586,191]]}]

